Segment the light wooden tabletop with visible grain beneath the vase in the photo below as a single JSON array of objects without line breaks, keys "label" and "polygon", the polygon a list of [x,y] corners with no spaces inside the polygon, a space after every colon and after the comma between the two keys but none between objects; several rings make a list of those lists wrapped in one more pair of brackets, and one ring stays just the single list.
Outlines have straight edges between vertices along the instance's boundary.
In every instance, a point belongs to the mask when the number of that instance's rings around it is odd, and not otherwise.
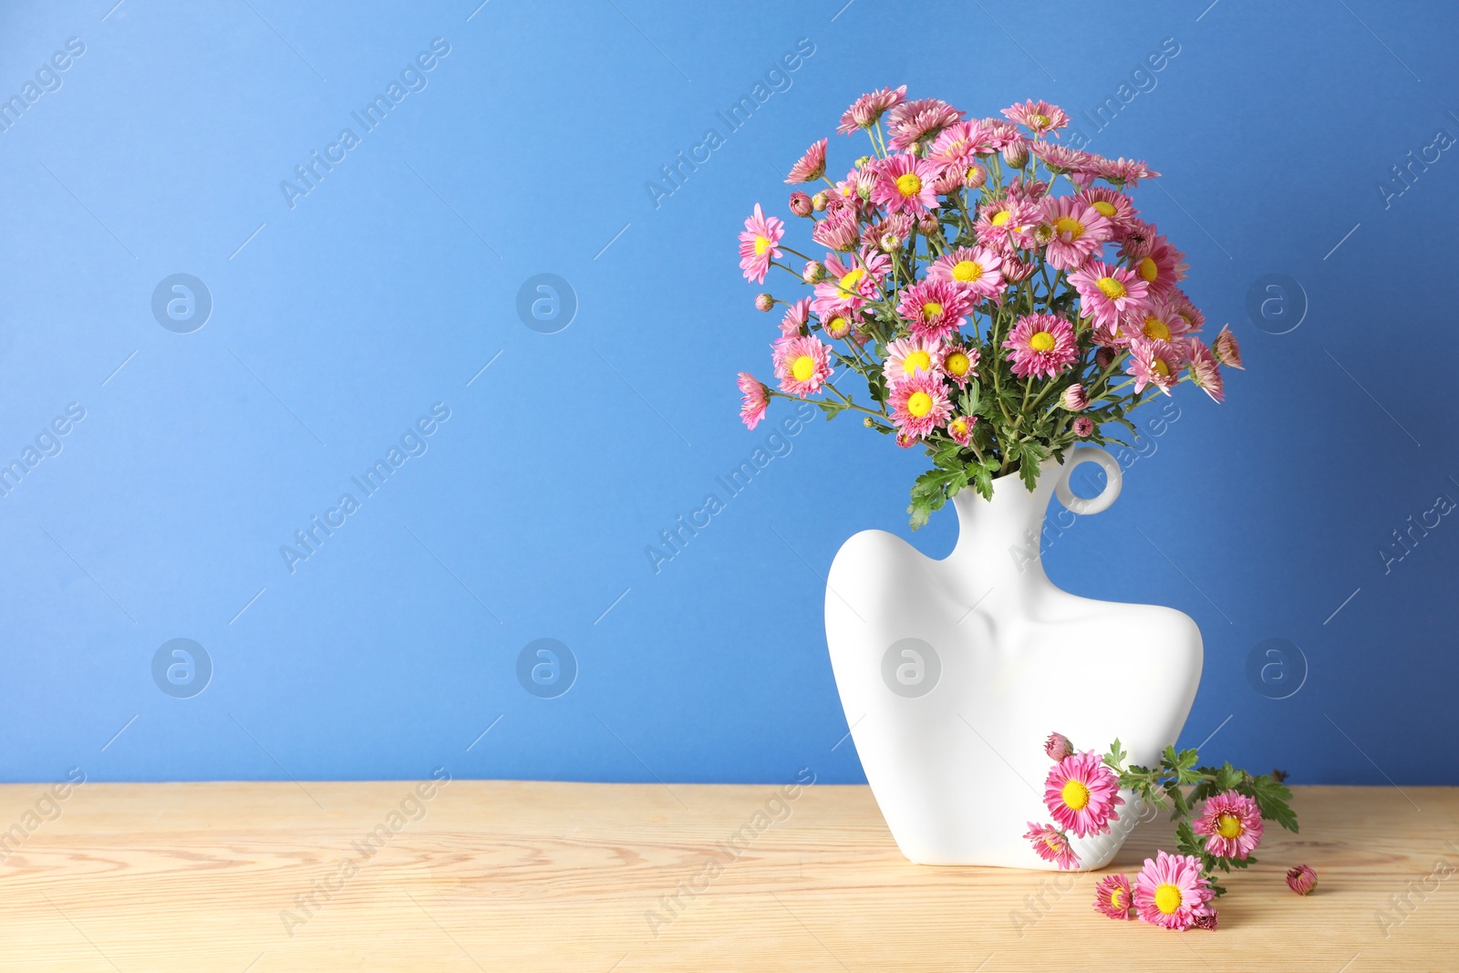
[{"label": "light wooden tabletop with visible grain beneath the vase", "polygon": [[1097,915],[1094,875],[912,865],[864,786],[422,791],[0,786],[0,970],[1459,969],[1459,788],[1297,788],[1301,834],[1186,934]]}]

